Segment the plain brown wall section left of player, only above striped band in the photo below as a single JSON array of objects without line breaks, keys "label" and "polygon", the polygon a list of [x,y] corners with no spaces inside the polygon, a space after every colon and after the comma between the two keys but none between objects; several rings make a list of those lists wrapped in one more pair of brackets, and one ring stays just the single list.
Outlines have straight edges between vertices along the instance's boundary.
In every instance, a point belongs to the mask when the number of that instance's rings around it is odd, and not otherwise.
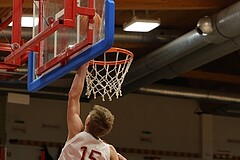
[{"label": "plain brown wall section left of player, only above striped band", "polygon": [[65,101],[36,98],[29,105],[8,103],[8,139],[65,141],[66,105]]}]

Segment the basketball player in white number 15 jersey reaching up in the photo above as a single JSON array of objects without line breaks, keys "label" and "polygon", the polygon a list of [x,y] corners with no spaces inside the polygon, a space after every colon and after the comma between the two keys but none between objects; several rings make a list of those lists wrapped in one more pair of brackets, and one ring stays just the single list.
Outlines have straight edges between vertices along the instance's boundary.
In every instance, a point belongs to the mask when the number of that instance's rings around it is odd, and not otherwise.
[{"label": "basketball player in white number 15 jersey reaching up", "polygon": [[112,145],[100,137],[107,135],[114,116],[101,106],[94,106],[83,124],[80,115],[80,96],[83,91],[88,64],[82,65],[72,82],[68,97],[68,137],[58,160],[124,160]]}]

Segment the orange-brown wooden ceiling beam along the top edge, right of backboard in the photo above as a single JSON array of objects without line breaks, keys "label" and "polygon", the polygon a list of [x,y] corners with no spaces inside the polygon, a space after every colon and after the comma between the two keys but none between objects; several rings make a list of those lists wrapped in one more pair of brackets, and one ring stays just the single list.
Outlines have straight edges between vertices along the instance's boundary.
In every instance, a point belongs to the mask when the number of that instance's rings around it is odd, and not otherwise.
[{"label": "orange-brown wooden ceiling beam along the top edge, right of backboard", "polygon": [[237,0],[115,0],[117,10],[219,9]]}]

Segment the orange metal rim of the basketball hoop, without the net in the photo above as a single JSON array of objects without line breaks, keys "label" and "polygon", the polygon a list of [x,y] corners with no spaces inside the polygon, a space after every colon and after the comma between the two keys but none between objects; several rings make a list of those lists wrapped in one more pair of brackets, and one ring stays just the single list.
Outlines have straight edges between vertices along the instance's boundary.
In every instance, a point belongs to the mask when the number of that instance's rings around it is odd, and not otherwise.
[{"label": "orange metal rim of the basketball hoop, without the net", "polygon": [[93,61],[94,61],[94,63],[97,64],[97,65],[119,65],[119,64],[124,64],[126,62],[129,62],[134,57],[132,52],[130,52],[130,51],[126,50],[126,49],[117,48],[117,47],[110,48],[109,50],[107,50],[105,52],[105,54],[113,53],[113,52],[115,52],[115,53],[119,52],[119,53],[122,53],[122,54],[129,55],[129,58],[128,59],[124,59],[124,60],[119,60],[119,61],[96,61],[96,60],[91,60],[89,64],[93,65]]}]

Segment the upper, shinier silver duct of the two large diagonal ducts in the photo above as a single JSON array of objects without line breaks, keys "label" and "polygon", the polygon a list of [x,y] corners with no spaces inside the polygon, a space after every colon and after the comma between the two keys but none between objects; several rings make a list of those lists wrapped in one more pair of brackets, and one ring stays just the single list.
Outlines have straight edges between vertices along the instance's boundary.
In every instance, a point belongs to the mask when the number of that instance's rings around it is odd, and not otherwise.
[{"label": "upper, shinier silver duct of the two large diagonal ducts", "polygon": [[[167,45],[153,51],[147,56],[133,62],[129,73],[125,79],[123,84],[123,88],[125,91],[128,88],[137,89],[136,86],[141,86],[142,84],[150,84],[150,82],[155,82],[159,79],[165,78],[163,74],[172,74],[174,72],[171,70],[172,66],[168,66],[168,70],[162,69],[163,67],[173,63],[174,61],[180,60],[181,58],[191,55],[195,52],[201,52],[201,54],[208,55],[218,52],[218,54],[213,54],[211,60],[220,58],[223,55],[229,54],[235,50],[239,49],[239,46],[234,44],[238,43],[238,40],[229,41],[227,43],[223,43],[230,38],[234,38],[240,35],[239,24],[240,24],[240,2],[222,10],[218,14],[211,17],[212,19],[212,27],[213,32],[207,36],[203,36],[199,34],[198,30],[190,31],[189,33],[181,36],[180,38],[168,43]],[[216,45],[210,45],[210,49],[212,51],[208,51],[207,49],[200,50],[200,48],[206,47],[211,43],[216,43]],[[219,45],[218,45],[219,44]],[[226,46],[225,46],[226,45]],[[227,49],[228,46],[234,46],[233,48]],[[214,47],[219,47],[218,49]],[[221,48],[221,49],[220,49]],[[200,50],[200,51],[197,51]],[[228,50],[228,51],[227,51]],[[213,52],[213,53],[212,53]],[[220,53],[222,55],[220,56]],[[201,61],[198,60],[199,55],[190,56],[192,59],[188,59],[190,63],[198,63],[194,64],[195,66],[201,66],[206,62],[210,62],[209,60],[203,58]],[[196,61],[194,61],[194,59]],[[189,62],[178,62],[180,68],[186,63]],[[185,72],[194,69],[193,67],[186,68]],[[171,71],[171,72],[169,72]],[[148,76],[150,78],[148,78]],[[173,75],[172,75],[173,76]],[[176,76],[176,73],[174,73]],[[148,81],[150,80],[150,81]],[[143,82],[146,81],[146,82]],[[139,83],[139,84],[137,84]],[[135,87],[134,87],[135,86]],[[130,89],[131,91],[133,91]]]}]

